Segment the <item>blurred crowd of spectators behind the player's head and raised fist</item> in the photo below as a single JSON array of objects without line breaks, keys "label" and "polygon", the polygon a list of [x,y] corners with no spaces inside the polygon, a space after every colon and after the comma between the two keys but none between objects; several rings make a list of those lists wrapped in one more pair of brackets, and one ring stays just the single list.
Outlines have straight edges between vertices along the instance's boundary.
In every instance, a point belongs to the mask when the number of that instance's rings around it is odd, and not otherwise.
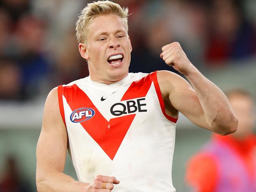
[{"label": "blurred crowd of spectators behind the player's head and raised fist", "polygon": [[[178,41],[200,68],[256,55],[255,0],[114,0],[129,8],[130,72],[170,68],[161,47]],[[32,100],[88,76],[75,38],[87,0],[0,1],[0,99]]]}]

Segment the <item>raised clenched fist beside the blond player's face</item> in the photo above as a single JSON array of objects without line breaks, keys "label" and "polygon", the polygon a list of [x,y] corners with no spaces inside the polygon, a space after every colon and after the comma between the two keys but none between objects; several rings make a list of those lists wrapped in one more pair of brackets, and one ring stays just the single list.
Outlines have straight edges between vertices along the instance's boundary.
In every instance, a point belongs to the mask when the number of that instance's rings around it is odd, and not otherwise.
[{"label": "raised clenched fist beside the blond player's face", "polygon": [[195,66],[188,60],[187,55],[182,50],[178,42],[173,42],[162,47],[160,57],[169,66],[173,66],[175,70],[181,74],[187,75]]}]

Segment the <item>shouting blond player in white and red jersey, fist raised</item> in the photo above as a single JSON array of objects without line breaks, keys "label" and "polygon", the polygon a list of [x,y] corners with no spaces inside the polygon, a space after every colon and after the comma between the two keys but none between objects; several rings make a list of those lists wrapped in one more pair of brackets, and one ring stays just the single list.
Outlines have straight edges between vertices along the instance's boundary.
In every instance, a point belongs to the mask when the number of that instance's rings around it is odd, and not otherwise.
[{"label": "shouting blond player in white and red jersey, fist raised", "polygon": [[[168,71],[128,73],[127,17],[127,8],[110,1],[81,12],[76,35],[90,75],[53,89],[46,99],[37,144],[39,192],[174,192],[178,111],[216,133],[236,131],[226,96],[189,62],[178,42],[163,46],[160,57],[194,89]],[[67,147],[79,182],[62,173]]]}]

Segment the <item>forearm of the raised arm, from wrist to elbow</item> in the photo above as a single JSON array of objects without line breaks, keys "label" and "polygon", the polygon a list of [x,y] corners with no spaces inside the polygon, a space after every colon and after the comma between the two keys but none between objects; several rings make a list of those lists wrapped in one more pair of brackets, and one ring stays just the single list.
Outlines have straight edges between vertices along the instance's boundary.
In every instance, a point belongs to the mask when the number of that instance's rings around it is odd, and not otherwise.
[{"label": "forearm of the raised arm, from wrist to elbow", "polygon": [[186,78],[197,94],[204,118],[212,131],[221,135],[236,131],[238,120],[225,94],[194,66],[186,74]]}]

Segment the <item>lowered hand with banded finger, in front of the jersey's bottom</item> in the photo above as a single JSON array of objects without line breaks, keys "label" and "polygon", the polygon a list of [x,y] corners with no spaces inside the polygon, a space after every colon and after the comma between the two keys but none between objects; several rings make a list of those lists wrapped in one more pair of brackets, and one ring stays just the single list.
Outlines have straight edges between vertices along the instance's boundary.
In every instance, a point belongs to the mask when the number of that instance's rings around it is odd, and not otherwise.
[{"label": "lowered hand with banded finger, in front of the jersey's bottom", "polygon": [[115,177],[97,175],[93,182],[84,188],[84,192],[111,192],[114,188],[113,184],[118,183],[120,183],[120,181]]}]

